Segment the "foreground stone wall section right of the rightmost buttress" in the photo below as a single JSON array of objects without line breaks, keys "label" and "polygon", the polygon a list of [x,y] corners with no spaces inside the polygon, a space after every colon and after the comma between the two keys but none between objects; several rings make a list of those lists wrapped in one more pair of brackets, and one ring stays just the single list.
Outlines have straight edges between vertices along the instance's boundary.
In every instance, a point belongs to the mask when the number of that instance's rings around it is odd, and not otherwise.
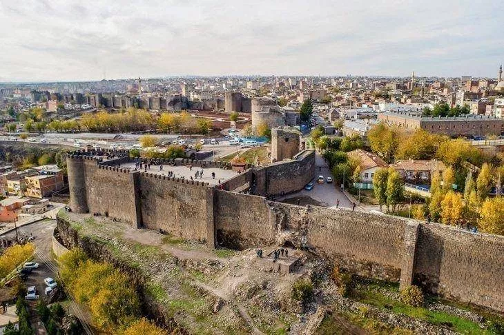
[{"label": "foreground stone wall section right of the rightmost buttress", "polygon": [[504,236],[420,225],[414,283],[504,312]]}]

